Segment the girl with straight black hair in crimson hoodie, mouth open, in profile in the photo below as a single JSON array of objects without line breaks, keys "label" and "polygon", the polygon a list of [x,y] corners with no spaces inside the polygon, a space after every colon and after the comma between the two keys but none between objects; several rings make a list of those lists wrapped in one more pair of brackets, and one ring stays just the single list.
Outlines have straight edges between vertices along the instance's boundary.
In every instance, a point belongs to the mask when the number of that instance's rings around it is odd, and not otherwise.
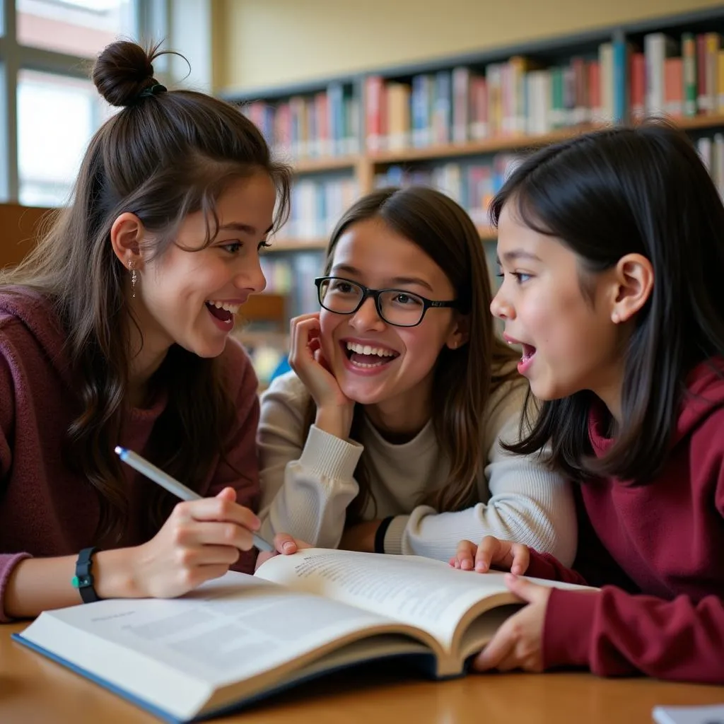
[{"label": "girl with straight black hair in crimson hoodie, mouth open, in profile", "polygon": [[[491,309],[542,400],[531,432],[577,486],[574,571],[489,538],[452,562],[529,602],[481,670],[581,666],[724,683],[724,206],[683,133],[617,128],[528,159],[492,204]],[[718,291],[717,291],[718,290]]]}]

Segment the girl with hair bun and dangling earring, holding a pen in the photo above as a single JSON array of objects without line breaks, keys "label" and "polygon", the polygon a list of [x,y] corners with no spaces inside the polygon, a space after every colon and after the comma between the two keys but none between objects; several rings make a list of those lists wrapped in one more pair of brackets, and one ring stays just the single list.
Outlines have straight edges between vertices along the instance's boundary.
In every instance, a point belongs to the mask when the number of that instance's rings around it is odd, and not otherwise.
[{"label": "girl with hair bun and dangling earring, holding a pen", "polygon": [[[96,88],[122,110],[0,279],[0,620],[253,571],[257,384],[229,332],[264,289],[289,171],[233,106],[160,85],[157,56],[118,42],[98,57]],[[116,445],[203,500],[174,505]]]}]

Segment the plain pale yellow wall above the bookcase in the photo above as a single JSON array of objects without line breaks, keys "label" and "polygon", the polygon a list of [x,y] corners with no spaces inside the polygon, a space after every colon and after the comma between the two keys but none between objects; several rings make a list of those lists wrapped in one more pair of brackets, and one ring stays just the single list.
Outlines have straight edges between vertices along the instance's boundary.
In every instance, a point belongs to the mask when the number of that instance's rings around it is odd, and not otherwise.
[{"label": "plain pale yellow wall above the bookcase", "polygon": [[721,0],[214,0],[214,88],[246,90],[716,7]]}]

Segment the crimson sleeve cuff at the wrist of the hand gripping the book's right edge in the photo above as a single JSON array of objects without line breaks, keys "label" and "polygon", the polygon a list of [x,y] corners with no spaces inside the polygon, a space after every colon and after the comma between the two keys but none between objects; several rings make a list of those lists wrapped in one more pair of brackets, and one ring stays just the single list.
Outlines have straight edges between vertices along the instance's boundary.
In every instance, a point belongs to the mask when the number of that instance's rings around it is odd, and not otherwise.
[{"label": "crimson sleeve cuff at the wrist of the hand gripping the book's right edge", "polygon": [[553,589],[543,626],[544,669],[588,666],[600,592]]}]

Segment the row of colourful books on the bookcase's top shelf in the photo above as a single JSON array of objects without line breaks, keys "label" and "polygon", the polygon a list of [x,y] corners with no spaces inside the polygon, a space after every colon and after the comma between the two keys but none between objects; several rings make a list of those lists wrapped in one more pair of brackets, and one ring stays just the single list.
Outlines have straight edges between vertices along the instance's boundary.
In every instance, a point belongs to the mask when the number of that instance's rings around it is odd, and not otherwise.
[{"label": "row of colourful books on the bookcase's top shelf", "polygon": [[[357,95],[358,94],[358,95]],[[245,112],[296,159],[375,156],[639,120],[724,115],[724,48],[716,32],[612,38],[545,66],[524,54],[411,77],[368,75]]]}]

